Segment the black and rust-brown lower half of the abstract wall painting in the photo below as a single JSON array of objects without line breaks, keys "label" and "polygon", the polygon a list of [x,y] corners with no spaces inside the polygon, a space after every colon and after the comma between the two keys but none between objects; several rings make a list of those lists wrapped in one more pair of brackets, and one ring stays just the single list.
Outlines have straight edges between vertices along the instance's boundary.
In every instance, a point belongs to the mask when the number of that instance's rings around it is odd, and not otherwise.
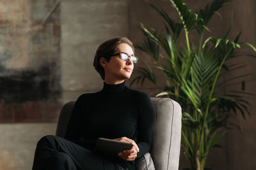
[{"label": "black and rust-brown lower half of the abstract wall painting", "polygon": [[56,64],[0,75],[0,122],[56,122],[61,87],[54,73]]}]

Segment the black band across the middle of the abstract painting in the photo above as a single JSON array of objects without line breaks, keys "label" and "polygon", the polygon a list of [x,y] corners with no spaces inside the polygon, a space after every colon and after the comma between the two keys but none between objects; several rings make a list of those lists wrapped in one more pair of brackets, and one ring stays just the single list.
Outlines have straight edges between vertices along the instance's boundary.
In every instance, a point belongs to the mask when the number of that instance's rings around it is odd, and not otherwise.
[{"label": "black band across the middle of the abstract painting", "polygon": [[9,71],[7,75],[0,75],[1,101],[12,103],[60,97],[59,78],[51,72],[55,72],[51,66],[44,66],[38,71]]}]

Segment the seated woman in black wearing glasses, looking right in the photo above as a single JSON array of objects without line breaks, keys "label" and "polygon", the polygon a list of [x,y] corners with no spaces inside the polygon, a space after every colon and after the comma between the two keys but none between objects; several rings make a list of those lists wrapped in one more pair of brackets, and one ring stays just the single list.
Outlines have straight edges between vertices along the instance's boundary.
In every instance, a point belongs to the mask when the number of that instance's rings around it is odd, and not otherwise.
[{"label": "seated woman in black wearing glasses, looking right", "polygon": [[[127,38],[109,39],[99,46],[93,66],[104,80],[103,89],[77,99],[65,139],[45,136],[38,141],[33,170],[134,169],[134,160],[150,150],[155,114],[147,94],[125,86],[137,61]],[[98,138],[134,145],[109,157],[93,152]]]}]

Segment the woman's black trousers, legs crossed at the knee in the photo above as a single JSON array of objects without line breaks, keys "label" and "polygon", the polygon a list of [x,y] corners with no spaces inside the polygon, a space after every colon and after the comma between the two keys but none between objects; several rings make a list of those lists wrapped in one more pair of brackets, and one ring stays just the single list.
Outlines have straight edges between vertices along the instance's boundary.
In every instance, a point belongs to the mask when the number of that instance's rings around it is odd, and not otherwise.
[{"label": "woman's black trousers, legs crossed at the knee", "polygon": [[127,170],[126,167],[97,155],[58,136],[38,141],[32,170]]}]

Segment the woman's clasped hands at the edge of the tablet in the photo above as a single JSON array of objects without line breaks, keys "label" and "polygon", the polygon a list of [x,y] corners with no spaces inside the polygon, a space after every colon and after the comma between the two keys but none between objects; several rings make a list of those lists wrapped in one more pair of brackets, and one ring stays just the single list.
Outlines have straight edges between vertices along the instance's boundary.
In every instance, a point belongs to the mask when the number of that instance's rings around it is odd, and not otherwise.
[{"label": "woman's clasped hands at the edge of the tablet", "polygon": [[129,143],[133,144],[131,150],[124,150],[123,152],[118,153],[119,157],[121,157],[122,159],[127,160],[127,161],[132,161],[132,160],[136,159],[137,153],[140,152],[140,150],[139,150],[138,145],[134,142],[134,140],[126,138],[126,137],[118,138],[115,140],[125,141],[125,142],[129,142]]}]

